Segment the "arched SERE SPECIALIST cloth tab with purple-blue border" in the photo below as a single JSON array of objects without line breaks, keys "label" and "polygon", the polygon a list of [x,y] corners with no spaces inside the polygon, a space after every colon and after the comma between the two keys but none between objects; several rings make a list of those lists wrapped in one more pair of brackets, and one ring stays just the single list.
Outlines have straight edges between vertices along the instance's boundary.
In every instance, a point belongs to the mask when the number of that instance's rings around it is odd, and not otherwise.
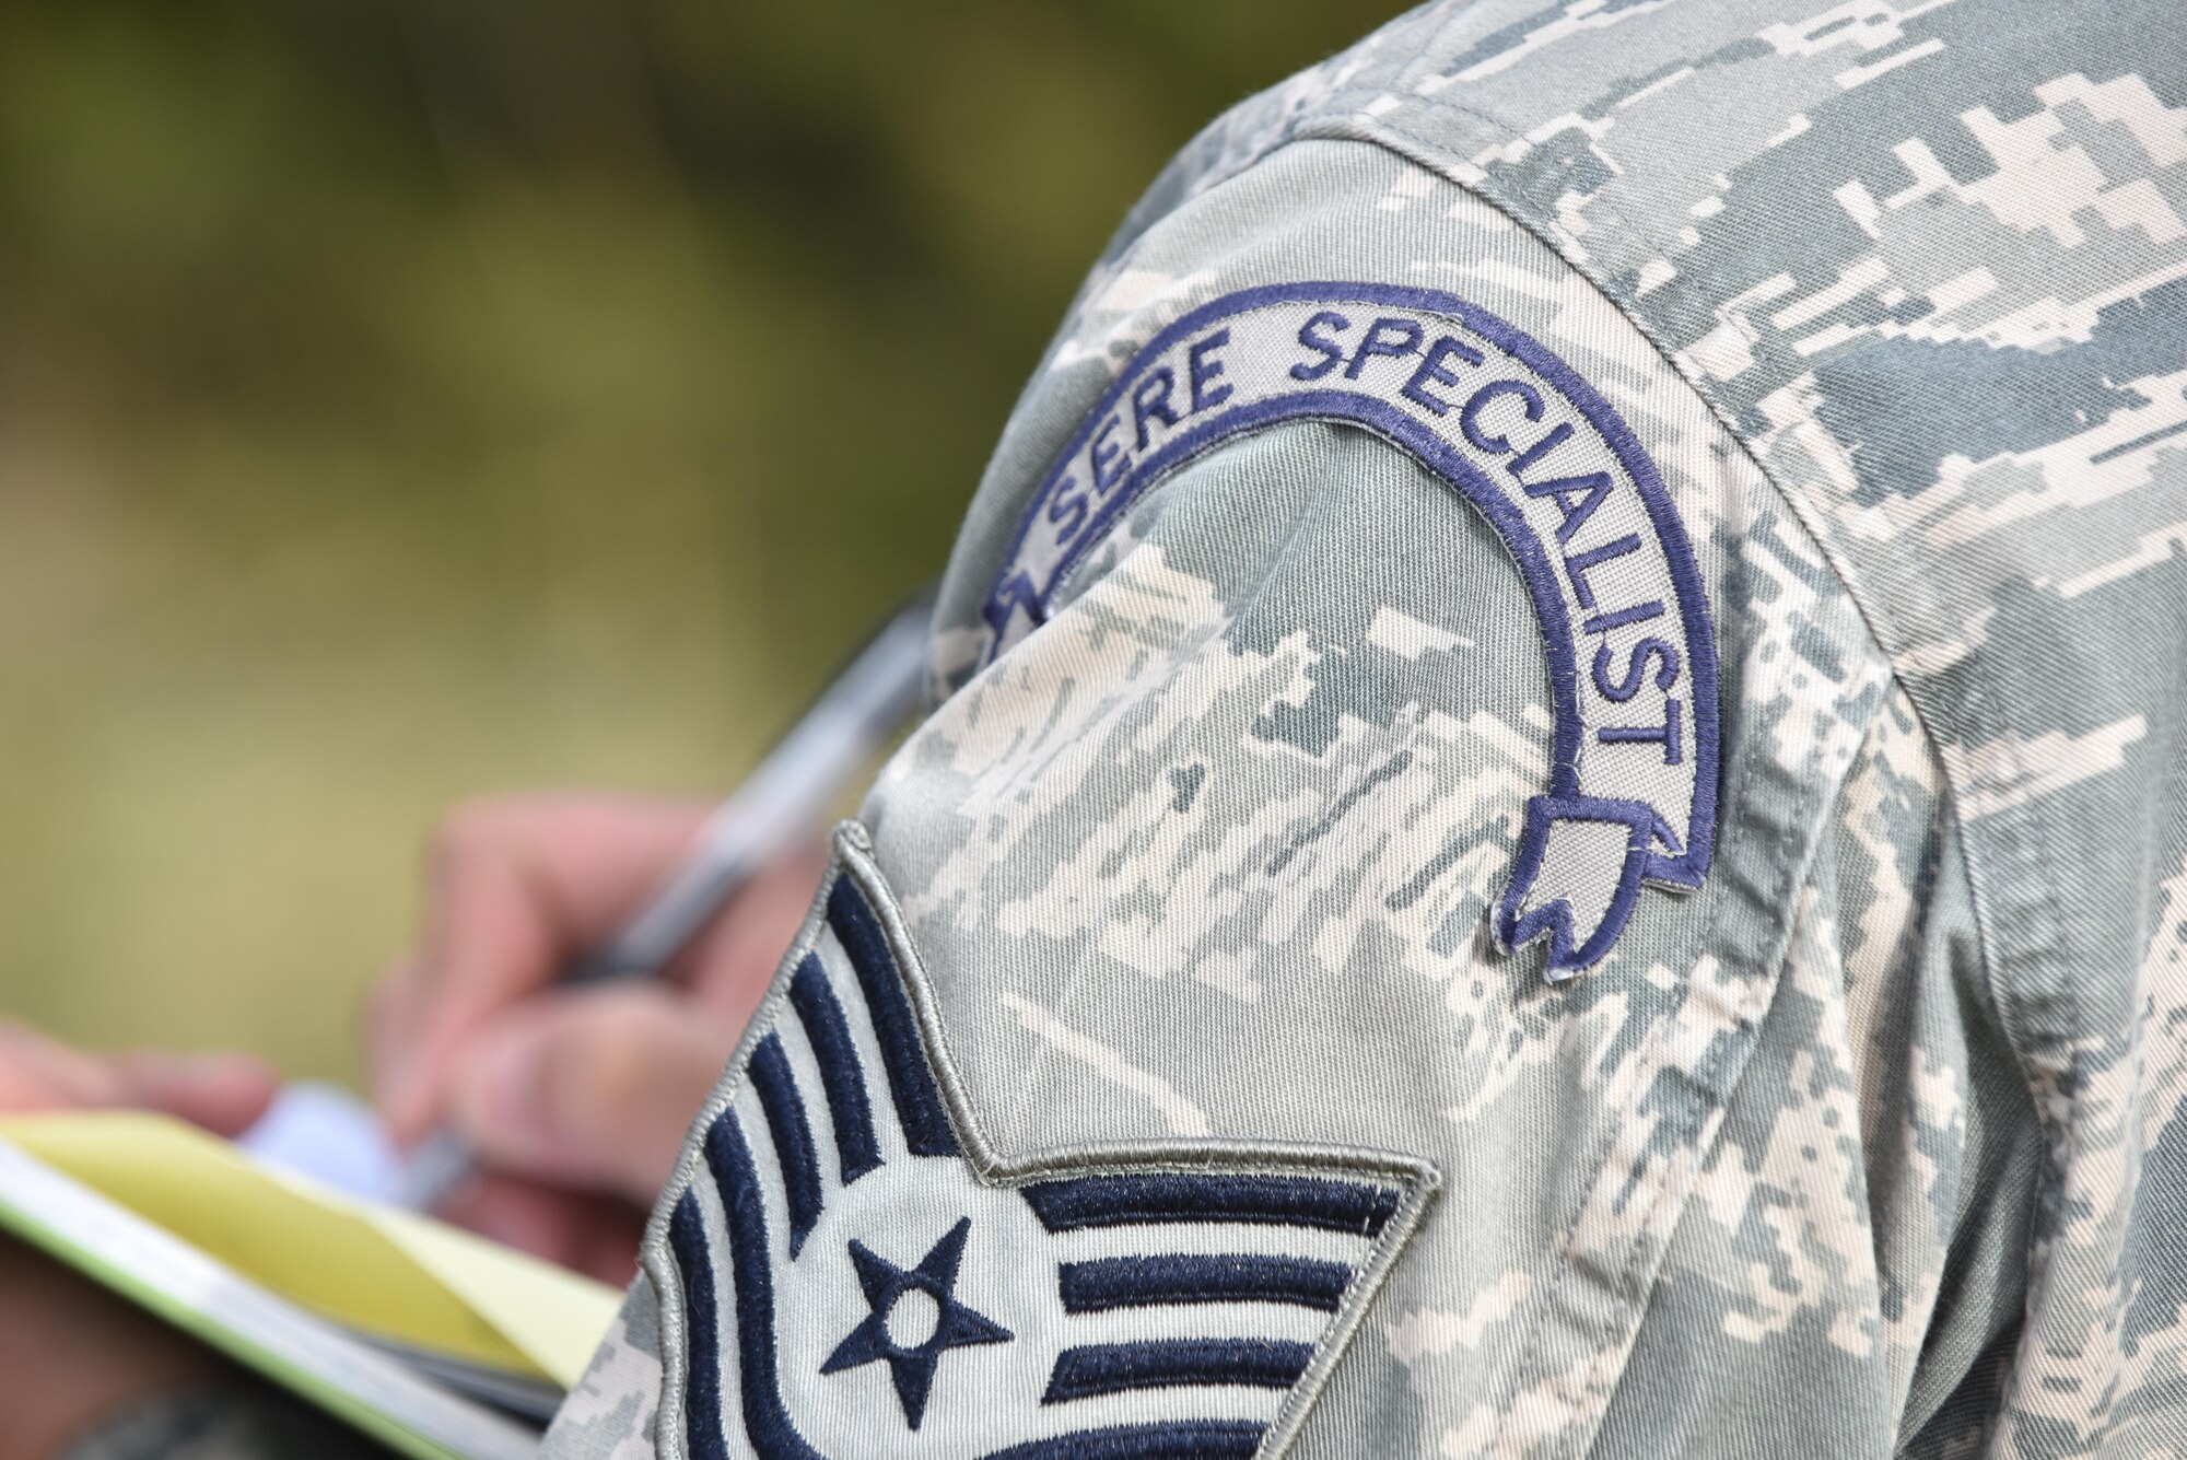
[{"label": "arched SERE SPECIALIST cloth tab with purple-blue border", "polygon": [[1371,431],[1474,505],[1518,562],[1548,660],[1548,787],[1527,802],[1489,914],[1548,977],[1601,962],[1642,883],[1693,890],[1717,824],[1717,645],[1677,509],[1586,380],[1478,304],[1432,289],[1282,284],[1161,330],[1087,413],[986,599],[986,651],[1048,619],[1107,529],[1249,431]]}]

